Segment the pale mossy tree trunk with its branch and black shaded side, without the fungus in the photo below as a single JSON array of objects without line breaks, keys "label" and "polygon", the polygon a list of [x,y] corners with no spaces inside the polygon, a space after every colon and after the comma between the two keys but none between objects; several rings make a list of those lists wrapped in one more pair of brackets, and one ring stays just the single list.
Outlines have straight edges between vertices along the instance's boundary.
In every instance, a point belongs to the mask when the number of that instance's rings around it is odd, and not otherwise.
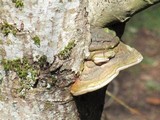
[{"label": "pale mossy tree trunk with its branch and black shaded side, without the fungus", "polygon": [[120,38],[126,20],[158,2],[0,0],[0,118],[99,120],[106,87],[70,93],[90,55],[92,28]]}]

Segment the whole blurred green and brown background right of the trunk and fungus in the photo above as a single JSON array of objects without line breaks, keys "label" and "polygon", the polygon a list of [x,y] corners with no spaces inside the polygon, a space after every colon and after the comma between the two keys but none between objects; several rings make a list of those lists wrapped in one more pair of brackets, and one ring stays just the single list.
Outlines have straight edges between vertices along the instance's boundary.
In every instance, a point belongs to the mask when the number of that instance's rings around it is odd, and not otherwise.
[{"label": "whole blurred green and brown background right of the trunk and fungus", "polygon": [[111,87],[111,91],[118,89],[115,96],[141,114],[130,113],[114,100],[112,104],[107,103],[107,96],[103,120],[159,120],[160,4],[134,15],[126,23],[122,40],[136,48],[144,59],[140,64],[120,72],[114,80],[117,85],[112,82],[108,88]]}]

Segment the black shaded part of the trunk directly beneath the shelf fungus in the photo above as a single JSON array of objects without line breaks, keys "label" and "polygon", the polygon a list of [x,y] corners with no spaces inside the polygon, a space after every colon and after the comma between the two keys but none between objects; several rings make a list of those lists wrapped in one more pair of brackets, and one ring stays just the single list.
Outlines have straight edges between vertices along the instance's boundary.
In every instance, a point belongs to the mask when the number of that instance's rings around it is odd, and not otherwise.
[{"label": "black shaded part of the trunk directly beneath the shelf fungus", "polygon": [[81,120],[101,119],[106,88],[74,97]]}]

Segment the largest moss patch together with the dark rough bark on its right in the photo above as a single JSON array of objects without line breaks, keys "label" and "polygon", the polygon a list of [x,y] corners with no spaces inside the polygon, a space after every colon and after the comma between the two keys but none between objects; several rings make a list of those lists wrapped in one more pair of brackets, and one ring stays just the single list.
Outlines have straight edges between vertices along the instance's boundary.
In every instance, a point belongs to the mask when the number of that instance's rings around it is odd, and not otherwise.
[{"label": "largest moss patch together with the dark rough bark on its right", "polygon": [[[56,77],[50,72],[46,72],[49,69],[49,63],[45,55],[41,56],[38,61],[33,61],[24,57],[23,59],[7,60],[2,59],[1,64],[7,73],[14,71],[18,77],[13,81],[11,94],[15,97],[25,98],[27,92],[33,88],[45,87],[49,89],[56,82]],[[44,80],[46,86],[42,86],[41,82]],[[0,83],[3,82],[0,79]],[[50,87],[48,87],[50,86]]]}]

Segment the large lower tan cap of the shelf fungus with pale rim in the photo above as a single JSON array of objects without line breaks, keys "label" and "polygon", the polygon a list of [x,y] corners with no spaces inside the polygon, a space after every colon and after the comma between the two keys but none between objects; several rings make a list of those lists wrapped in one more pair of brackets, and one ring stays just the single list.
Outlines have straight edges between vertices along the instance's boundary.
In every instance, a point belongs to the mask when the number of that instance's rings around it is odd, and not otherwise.
[{"label": "large lower tan cap of the shelf fungus with pale rim", "polygon": [[142,55],[134,48],[120,42],[113,51],[115,56],[108,62],[97,65],[93,61],[84,62],[84,69],[71,86],[74,96],[98,90],[110,83],[121,70],[138,64]]}]

